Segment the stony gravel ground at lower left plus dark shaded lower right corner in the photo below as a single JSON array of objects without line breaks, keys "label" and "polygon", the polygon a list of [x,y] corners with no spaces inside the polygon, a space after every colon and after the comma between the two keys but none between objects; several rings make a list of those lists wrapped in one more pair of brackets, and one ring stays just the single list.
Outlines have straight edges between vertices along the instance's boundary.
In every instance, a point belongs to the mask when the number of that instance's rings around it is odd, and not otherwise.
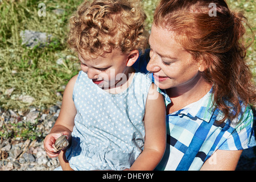
[{"label": "stony gravel ground at lower left plus dark shaded lower right corner", "polygon": [[[37,110],[31,107],[28,111],[7,110],[0,108],[0,131],[9,138],[0,140],[0,171],[51,171],[59,166],[57,158],[49,158],[43,148],[43,138],[51,130],[59,115],[61,103]],[[30,122],[30,139],[15,133],[19,124]],[[254,127],[255,130],[255,127]],[[1,133],[0,133],[1,134]],[[38,136],[33,136],[36,134]],[[29,135],[29,134],[27,134]],[[34,138],[33,138],[34,137]],[[26,137],[25,137],[26,138]],[[244,150],[238,162],[237,170],[256,170],[256,147]]]}]

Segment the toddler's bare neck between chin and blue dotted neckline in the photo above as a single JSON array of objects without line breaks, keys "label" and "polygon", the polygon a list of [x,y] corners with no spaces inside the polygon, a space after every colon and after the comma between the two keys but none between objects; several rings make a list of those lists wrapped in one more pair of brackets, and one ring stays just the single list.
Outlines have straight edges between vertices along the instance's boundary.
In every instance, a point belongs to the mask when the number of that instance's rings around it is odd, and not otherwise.
[{"label": "toddler's bare neck between chin and blue dotted neckline", "polygon": [[125,71],[123,72],[126,79],[121,78],[121,80],[118,81],[113,88],[105,89],[105,91],[111,94],[122,93],[129,88],[131,82],[133,81],[134,73],[135,69],[133,67],[126,67]]}]

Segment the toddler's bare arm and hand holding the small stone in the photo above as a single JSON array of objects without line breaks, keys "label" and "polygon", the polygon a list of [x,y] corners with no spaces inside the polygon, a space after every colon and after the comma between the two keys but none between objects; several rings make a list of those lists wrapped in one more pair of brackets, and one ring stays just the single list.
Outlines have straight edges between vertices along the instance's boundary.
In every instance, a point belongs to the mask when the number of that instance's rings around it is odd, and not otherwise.
[{"label": "toddler's bare arm and hand holding the small stone", "polygon": [[[52,127],[51,133],[44,139],[44,148],[47,152],[47,155],[51,158],[54,158],[60,154],[60,152],[56,152],[52,146],[55,143],[55,140],[62,134],[68,135],[69,143],[71,143],[71,133],[75,125],[74,119],[76,116],[76,107],[72,99],[73,88],[75,86],[76,79],[77,76],[74,76],[68,82],[63,95],[63,102],[61,105],[59,117],[57,118],[55,125]],[[60,158],[60,160],[62,159],[63,158]]]}]

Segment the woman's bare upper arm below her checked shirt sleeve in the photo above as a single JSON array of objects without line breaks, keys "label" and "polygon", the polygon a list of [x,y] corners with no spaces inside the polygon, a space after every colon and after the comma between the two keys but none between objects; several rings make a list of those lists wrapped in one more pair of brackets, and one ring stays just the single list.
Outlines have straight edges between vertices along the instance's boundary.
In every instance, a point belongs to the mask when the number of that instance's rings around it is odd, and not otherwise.
[{"label": "woman's bare upper arm below her checked shirt sleeve", "polygon": [[234,171],[242,150],[217,150],[201,167],[201,171]]}]

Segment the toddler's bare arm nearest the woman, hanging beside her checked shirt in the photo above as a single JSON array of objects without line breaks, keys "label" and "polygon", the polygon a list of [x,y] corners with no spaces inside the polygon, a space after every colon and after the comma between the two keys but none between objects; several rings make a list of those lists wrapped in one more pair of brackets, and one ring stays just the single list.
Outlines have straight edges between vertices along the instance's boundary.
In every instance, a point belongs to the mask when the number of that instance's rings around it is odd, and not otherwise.
[{"label": "toddler's bare arm nearest the woman, hanging beside her checked shirt", "polygon": [[147,96],[144,125],[144,150],[130,170],[154,170],[166,148],[166,106],[163,96],[158,93],[154,84]]}]

